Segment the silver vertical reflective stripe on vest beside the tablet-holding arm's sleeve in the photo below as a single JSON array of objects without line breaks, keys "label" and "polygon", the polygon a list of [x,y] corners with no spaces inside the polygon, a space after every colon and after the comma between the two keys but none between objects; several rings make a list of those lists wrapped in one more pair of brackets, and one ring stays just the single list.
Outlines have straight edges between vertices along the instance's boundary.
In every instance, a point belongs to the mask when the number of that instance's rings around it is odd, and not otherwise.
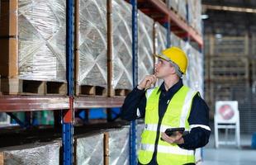
[{"label": "silver vertical reflective stripe on vest beside the tablet-holding arm's sleeve", "polygon": [[185,97],[183,110],[182,110],[182,114],[181,114],[181,118],[180,118],[180,123],[179,123],[180,127],[186,128],[185,127],[186,126],[186,119],[187,119],[188,112],[191,108],[191,102],[192,102],[192,99],[193,99],[192,96],[194,94],[195,94],[195,91],[193,91],[192,89],[189,89],[189,91],[187,92],[187,96]]}]

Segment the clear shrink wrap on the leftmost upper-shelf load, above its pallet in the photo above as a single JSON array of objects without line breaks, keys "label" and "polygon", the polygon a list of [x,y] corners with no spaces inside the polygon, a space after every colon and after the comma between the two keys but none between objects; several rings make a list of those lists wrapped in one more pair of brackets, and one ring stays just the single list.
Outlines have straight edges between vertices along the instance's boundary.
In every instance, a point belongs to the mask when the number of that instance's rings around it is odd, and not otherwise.
[{"label": "clear shrink wrap on the leftmost upper-shelf load, above its pallet", "polygon": [[66,1],[18,1],[19,78],[66,81]]}]

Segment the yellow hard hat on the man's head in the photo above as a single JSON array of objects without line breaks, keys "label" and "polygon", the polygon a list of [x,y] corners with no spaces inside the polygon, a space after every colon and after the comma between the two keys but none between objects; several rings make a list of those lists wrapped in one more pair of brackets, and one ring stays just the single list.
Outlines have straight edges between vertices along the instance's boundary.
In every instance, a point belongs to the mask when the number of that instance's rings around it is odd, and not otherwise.
[{"label": "yellow hard hat on the man's head", "polygon": [[167,60],[178,65],[179,70],[185,74],[187,70],[187,54],[178,47],[171,47],[163,50],[161,54],[155,55],[158,58]]}]

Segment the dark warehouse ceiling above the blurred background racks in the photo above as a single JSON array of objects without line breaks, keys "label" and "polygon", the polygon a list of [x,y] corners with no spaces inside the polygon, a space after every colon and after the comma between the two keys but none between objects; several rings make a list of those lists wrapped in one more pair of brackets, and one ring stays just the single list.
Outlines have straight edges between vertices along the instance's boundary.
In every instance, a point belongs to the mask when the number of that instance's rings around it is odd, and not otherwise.
[{"label": "dark warehouse ceiling above the blurred background racks", "polygon": [[252,35],[256,33],[255,0],[202,0],[204,34]]}]

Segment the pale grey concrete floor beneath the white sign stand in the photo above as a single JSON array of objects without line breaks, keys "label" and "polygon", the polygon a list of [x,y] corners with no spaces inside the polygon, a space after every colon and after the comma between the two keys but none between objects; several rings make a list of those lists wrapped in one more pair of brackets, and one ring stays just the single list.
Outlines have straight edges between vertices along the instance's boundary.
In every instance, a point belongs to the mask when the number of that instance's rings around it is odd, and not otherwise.
[{"label": "pale grey concrete floor beneath the white sign stand", "polygon": [[214,134],[209,144],[202,150],[201,165],[256,165],[256,149],[250,148],[251,134],[241,134],[241,148],[220,145],[214,147]]}]

